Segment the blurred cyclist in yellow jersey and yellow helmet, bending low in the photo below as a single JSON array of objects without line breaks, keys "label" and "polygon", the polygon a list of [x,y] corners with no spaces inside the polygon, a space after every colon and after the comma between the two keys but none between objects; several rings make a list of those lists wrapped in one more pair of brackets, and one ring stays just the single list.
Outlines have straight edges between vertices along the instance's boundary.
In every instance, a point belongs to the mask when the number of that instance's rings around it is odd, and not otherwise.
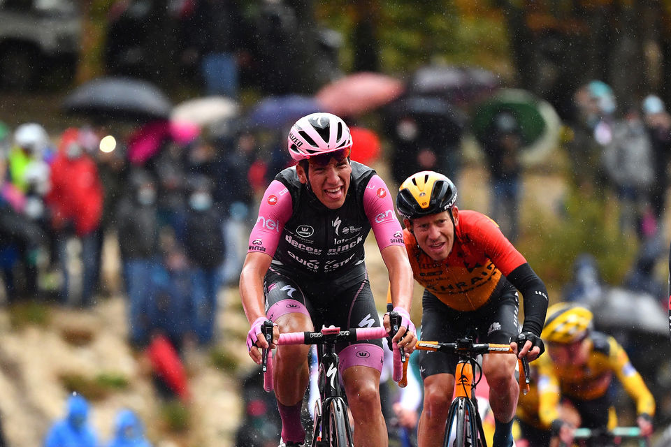
[{"label": "blurred cyclist in yellow jersey and yellow helmet, bending low", "polygon": [[[593,330],[593,314],[589,309],[568,302],[550,306],[541,337],[549,356],[537,366],[546,371],[551,367],[561,396],[579,415],[580,426],[612,428],[616,425],[611,411],[612,397],[608,393],[616,376],[636,403],[636,422],[641,434],[652,434],[654,397],[622,346],[613,337]],[[547,360],[551,360],[551,365]],[[554,398],[542,393],[540,405],[546,404],[544,399]]]}]

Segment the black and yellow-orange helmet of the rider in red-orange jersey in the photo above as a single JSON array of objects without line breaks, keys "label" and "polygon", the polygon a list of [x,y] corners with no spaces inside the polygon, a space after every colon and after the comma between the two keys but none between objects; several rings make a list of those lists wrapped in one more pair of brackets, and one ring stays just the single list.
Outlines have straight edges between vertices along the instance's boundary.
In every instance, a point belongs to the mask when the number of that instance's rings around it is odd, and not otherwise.
[{"label": "black and yellow-orange helmet of the rider in red-orange jersey", "polygon": [[405,179],[398,189],[396,210],[405,219],[438,214],[456,203],[456,186],[445,175],[423,170]]}]

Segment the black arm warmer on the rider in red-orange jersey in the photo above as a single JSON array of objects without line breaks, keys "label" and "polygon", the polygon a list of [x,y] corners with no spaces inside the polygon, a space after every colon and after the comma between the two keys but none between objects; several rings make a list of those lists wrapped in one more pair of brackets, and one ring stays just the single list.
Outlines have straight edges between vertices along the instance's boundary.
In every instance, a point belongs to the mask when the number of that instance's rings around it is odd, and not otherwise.
[{"label": "black arm warmer on the rider in red-orange jersey", "polygon": [[507,276],[524,298],[524,324],[522,332],[532,332],[540,337],[547,312],[547,289],[528,263],[520,265]]}]

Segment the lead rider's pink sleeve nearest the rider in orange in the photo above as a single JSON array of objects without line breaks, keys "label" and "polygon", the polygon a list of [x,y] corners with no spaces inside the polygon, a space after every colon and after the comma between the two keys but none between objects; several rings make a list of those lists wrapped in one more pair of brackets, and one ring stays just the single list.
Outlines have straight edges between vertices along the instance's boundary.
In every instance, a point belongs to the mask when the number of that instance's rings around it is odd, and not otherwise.
[{"label": "lead rider's pink sleeve nearest the rider in orange", "polygon": [[366,211],[380,251],[389,245],[404,245],[401,223],[394,212],[394,201],[389,188],[378,175],[373,175],[366,186],[363,210]]}]

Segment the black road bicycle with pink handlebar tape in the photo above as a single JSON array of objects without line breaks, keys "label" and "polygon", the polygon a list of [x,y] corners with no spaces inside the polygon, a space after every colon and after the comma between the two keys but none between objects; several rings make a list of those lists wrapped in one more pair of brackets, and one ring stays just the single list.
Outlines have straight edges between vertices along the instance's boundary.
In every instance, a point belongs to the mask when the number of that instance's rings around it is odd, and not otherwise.
[{"label": "black road bicycle with pink handlebar tape", "polygon": [[[355,342],[367,339],[391,337],[396,334],[401,316],[396,312],[390,314],[391,334],[382,327],[378,328],[351,328],[341,330],[331,326],[322,328],[319,332],[287,332],[280,334],[277,345],[287,344],[315,344],[319,359],[319,401],[315,403],[315,413],[312,418],[311,447],[353,447],[352,427],[349,425],[349,411],[345,393],[338,380],[338,354],[335,345],[341,342]],[[266,321],[262,328],[266,341],[270,344],[273,338],[273,323]],[[394,381],[399,386],[405,386],[405,372],[407,359],[403,349],[394,344]],[[261,369],[264,372],[264,388],[273,390],[273,362],[270,349],[262,352]]]}]

